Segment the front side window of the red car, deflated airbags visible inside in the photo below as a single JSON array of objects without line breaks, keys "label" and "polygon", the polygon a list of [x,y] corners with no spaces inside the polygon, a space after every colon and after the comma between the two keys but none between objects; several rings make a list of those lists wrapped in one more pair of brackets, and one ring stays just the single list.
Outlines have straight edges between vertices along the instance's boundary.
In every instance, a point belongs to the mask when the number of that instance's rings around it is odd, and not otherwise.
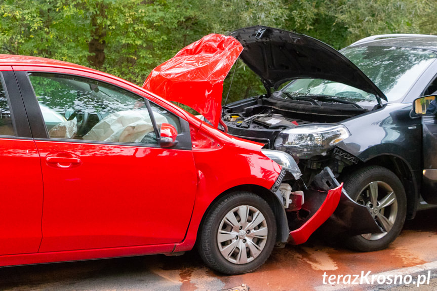
[{"label": "front side window of the red car, deflated airbags visible inside", "polygon": [[[50,138],[157,145],[145,99],[84,77],[29,73]],[[168,122],[165,114],[153,114]]]}]

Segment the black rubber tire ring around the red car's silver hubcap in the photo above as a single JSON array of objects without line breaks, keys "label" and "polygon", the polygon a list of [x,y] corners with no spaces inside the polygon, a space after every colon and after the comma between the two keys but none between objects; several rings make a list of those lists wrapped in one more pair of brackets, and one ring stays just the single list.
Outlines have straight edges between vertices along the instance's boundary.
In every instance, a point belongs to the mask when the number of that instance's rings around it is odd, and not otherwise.
[{"label": "black rubber tire ring around the red car's silver hubcap", "polygon": [[[268,228],[267,241],[261,254],[252,262],[242,265],[227,261],[221,255],[217,244],[217,232],[222,219],[229,211],[239,205],[256,207],[256,209],[263,214]],[[197,247],[202,259],[204,259],[205,263],[212,269],[225,274],[242,274],[257,269],[267,260],[273,249],[275,240],[276,220],[268,203],[260,196],[251,192],[234,192],[214,203],[214,206],[208,212],[203,223],[200,243]]]}]

